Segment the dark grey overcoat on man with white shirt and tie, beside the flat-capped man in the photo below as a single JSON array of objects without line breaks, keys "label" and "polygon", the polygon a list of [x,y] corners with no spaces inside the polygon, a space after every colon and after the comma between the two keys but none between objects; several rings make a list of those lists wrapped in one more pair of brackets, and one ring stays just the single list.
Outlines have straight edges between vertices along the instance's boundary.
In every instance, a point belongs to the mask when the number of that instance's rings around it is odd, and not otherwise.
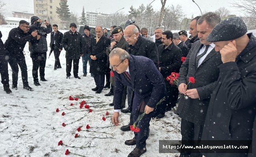
[{"label": "dark grey overcoat on man with white shirt and tie, beside the flat-capped man", "polygon": [[222,61],[220,53],[212,49],[202,64],[196,68],[196,55],[200,49],[201,43],[196,41],[190,49],[185,62],[181,64],[179,71],[179,84],[188,84],[189,77],[195,78],[195,83],[190,83],[187,89],[196,88],[200,100],[189,97],[185,99],[182,94],[177,112],[182,119],[203,125],[212,91],[217,84],[219,65],[222,64]]}]

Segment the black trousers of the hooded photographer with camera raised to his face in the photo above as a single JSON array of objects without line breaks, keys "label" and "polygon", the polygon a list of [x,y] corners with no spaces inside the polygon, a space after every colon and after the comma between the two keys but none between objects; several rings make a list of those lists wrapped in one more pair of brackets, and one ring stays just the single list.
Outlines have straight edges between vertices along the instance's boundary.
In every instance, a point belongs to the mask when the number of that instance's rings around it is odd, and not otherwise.
[{"label": "black trousers of the hooded photographer with camera raised to his face", "polygon": [[44,53],[30,53],[30,57],[32,58],[32,76],[34,81],[38,81],[38,68],[40,78],[44,78],[44,68],[46,64],[46,52]]}]

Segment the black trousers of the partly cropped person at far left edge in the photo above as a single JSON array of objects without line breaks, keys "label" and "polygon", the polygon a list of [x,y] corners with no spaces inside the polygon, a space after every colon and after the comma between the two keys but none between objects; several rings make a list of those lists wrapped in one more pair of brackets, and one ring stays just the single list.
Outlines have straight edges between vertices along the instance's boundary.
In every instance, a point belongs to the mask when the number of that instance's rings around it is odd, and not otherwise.
[{"label": "black trousers of the partly cropped person at far left edge", "polygon": [[9,73],[8,73],[8,62],[5,60],[6,55],[0,55],[0,73],[1,83],[4,87],[9,87]]}]

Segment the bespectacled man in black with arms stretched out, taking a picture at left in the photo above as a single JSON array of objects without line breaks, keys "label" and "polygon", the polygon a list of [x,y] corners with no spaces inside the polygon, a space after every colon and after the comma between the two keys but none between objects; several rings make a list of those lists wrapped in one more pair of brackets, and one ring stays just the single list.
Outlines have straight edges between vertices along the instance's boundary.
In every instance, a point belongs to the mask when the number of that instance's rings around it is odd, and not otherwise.
[{"label": "bespectacled man in black with arms stretched out, taking a picture at left", "polygon": [[25,20],[21,20],[17,28],[11,29],[4,45],[7,49],[7,55],[9,55],[8,62],[12,69],[12,88],[17,89],[19,71],[18,66],[20,66],[23,88],[33,91],[33,88],[29,87],[27,82],[27,64],[23,50],[28,41],[36,42],[39,40],[40,35],[37,34],[37,31],[33,31],[32,33],[29,33],[28,31],[29,23]]}]

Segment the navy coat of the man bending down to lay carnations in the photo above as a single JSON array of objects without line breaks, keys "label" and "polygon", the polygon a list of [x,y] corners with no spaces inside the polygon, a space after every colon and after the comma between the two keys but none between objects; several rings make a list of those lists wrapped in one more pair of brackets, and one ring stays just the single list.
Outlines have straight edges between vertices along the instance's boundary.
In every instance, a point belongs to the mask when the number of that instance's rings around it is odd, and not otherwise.
[{"label": "navy coat of the man bending down to lay carnations", "polygon": [[[155,108],[157,102],[166,96],[166,87],[163,76],[155,67],[154,62],[143,56],[130,55],[129,72],[130,82],[126,79],[124,73],[119,74],[114,71],[114,109],[121,109],[124,85],[131,87],[135,92],[132,106],[133,111],[138,110],[142,100],[149,107]],[[158,115],[162,107],[165,107],[162,104],[151,112],[153,118]]]}]

